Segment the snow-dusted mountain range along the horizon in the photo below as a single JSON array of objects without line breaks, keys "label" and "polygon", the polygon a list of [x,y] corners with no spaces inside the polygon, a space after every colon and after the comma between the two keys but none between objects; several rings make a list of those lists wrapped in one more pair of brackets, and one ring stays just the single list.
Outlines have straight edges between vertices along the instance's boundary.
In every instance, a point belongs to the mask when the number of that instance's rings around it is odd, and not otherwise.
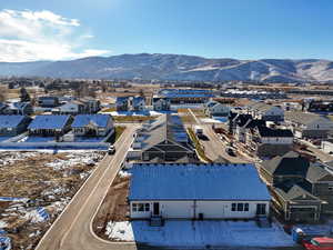
[{"label": "snow-dusted mountain range along the horizon", "polygon": [[68,61],[0,62],[0,76],[157,79],[194,81],[333,81],[333,61],[321,59],[209,59],[184,54],[138,53]]}]

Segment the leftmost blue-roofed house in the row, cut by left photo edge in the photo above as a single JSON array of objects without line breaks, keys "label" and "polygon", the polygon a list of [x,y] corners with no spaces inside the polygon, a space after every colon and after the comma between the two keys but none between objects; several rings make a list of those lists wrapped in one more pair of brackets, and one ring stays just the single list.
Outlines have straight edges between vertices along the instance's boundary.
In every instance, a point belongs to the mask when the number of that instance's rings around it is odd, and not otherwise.
[{"label": "leftmost blue-roofed house in the row, cut by left photo edge", "polygon": [[27,116],[0,116],[0,136],[18,136],[27,130],[30,121]]}]

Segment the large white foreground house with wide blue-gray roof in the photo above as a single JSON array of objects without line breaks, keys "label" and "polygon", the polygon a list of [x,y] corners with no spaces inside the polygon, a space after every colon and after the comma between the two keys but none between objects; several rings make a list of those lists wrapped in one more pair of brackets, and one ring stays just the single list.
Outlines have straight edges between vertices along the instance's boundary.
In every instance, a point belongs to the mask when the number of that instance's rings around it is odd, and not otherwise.
[{"label": "large white foreground house with wide blue-gray roof", "polygon": [[253,164],[135,163],[130,218],[251,219],[266,217],[271,197]]}]

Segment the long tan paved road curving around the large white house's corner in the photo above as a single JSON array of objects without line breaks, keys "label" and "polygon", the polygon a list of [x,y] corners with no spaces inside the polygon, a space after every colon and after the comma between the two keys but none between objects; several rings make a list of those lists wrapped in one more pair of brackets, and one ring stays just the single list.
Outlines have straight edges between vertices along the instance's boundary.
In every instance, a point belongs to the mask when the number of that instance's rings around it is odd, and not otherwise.
[{"label": "long tan paved road curving around the large white house's corner", "polygon": [[37,250],[132,250],[133,243],[103,241],[92,233],[91,221],[115,178],[121,162],[133,140],[137,126],[128,127],[117,141],[117,153],[107,156],[73,197],[65,210],[37,246]]}]

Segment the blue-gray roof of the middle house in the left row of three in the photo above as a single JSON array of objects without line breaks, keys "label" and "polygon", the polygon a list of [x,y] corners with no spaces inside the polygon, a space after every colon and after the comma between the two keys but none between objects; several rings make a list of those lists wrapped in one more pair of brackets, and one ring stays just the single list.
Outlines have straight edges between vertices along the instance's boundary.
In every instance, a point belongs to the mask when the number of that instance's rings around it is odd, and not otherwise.
[{"label": "blue-gray roof of the middle house in the left row of three", "polygon": [[28,129],[62,129],[70,116],[37,116]]}]

